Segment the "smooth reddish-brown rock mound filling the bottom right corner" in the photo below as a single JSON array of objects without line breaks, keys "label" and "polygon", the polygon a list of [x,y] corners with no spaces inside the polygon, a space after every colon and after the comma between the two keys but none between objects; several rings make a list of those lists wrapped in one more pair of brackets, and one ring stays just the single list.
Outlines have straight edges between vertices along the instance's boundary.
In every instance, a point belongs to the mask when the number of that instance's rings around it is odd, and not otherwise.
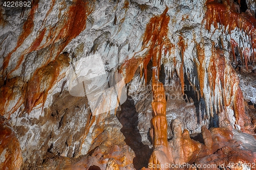
[{"label": "smooth reddish-brown rock mound filling the bottom right corner", "polygon": [[[206,129],[204,128],[203,131]],[[203,165],[211,166],[212,169],[245,167],[255,169],[256,153],[255,150],[249,149],[251,146],[248,143],[248,141],[256,141],[253,136],[228,128],[212,128],[211,137],[214,141],[212,154],[201,152],[198,155],[195,163],[201,166],[199,169],[207,169],[207,167],[203,168]],[[209,149],[206,147],[206,150]]]}]

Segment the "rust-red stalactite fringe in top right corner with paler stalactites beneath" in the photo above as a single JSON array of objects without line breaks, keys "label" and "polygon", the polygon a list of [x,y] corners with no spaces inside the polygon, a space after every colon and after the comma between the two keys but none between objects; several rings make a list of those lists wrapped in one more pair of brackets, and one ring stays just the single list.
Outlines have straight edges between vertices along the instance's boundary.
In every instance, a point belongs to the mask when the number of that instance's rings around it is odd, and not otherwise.
[{"label": "rust-red stalactite fringe in top right corner with paler stalactites beneath", "polygon": [[[249,43],[248,46],[244,45],[243,39],[239,38],[239,42],[236,42],[234,38],[230,39],[230,48],[235,60],[239,60],[240,64],[246,66],[248,70],[248,65],[255,64],[256,55],[256,19],[253,16],[254,12],[246,10],[240,13],[240,1],[238,4],[234,1],[222,1],[218,3],[217,1],[207,1],[206,2],[206,29],[211,30],[211,26],[218,29],[218,23],[224,27],[224,32],[231,34],[232,30],[238,30],[239,32],[244,32],[248,39],[246,41]],[[223,44],[223,43],[222,43]],[[222,45],[223,46],[223,45]],[[244,46],[244,47],[242,47]],[[239,58],[238,58],[239,57]]]}]

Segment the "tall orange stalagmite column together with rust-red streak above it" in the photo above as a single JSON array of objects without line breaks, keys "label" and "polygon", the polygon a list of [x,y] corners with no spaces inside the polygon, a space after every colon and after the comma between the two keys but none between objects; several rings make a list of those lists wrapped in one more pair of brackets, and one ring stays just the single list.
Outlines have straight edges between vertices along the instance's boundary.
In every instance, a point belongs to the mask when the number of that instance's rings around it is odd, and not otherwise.
[{"label": "tall orange stalagmite column together with rust-red streak above it", "polygon": [[[153,101],[152,108],[154,117],[152,118],[153,126],[153,145],[154,151],[150,158],[151,163],[159,163],[164,161],[169,162],[169,150],[167,141],[167,121],[166,121],[166,100],[163,84],[159,82],[159,72],[162,51],[164,55],[170,53],[173,44],[167,38],[169,16],[166,15],[168,8],[160,16],[155,16],[150,19],[146,26],[146,30],[142,42],[142,50],[147,49],[145,56],[126,61],[121,71],[125,70],[125,83],[130,82],[139,65],[142,65],[141,70],[144,70],[145,83],[147,82],[147,64],[152,60],[152,86],[153,86]],[[183,50],[185,47],[183,47]],[[141,63],[142,62],[142,63]],[[183,72],[183,71],[182,71]],[[141,71],[142,73],[142,71]],[[184,83],[183,83],[184,84]],[[163,161],[163,162],[164,162]],[[163,163],[162,162],[162,163]]]}]

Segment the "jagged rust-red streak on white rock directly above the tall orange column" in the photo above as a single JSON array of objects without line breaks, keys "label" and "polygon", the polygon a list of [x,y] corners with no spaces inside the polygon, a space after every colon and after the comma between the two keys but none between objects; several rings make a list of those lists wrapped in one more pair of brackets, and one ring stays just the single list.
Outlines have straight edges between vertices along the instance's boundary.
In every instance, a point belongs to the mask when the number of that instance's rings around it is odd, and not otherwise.
[{"label": "jagged rust-red streak on white rock directly above the tall orange column", "polygon": [[[162,52],[164,51],[165,55],[167,52],[170,54],[170,50],[174,46],[167,36],[168,23],[170,20],[170,17],[166,15],[167,11],[168,8],[166,7],[160,16],[151,18],[147,23],[141,47],[141,51],[147,49],[145,55],[136,56],[137,53],[135,53],[132,59],[125,61],[120,67],[120,71],[124,74],[125,83],[128,83],[133,79],[133,76],[139,66],[141,66],[141,70],[144,70],[144,79],[145,82],[147,82],[147,64],[151,59],[154,62],[153,75],[159,76]],[[153,59],[153,57],[155,57],[155,59]],[[153,79],[155,79],[154,76]]]}]

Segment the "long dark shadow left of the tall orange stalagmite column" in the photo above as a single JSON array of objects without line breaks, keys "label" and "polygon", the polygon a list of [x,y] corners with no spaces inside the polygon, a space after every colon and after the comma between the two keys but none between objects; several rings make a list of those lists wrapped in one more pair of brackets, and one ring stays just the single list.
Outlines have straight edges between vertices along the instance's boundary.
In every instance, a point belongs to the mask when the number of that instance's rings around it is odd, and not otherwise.
[{"label": "long dark shadow left of the tall orange stalagmite column", "polygon": [[135,153],[133,159],[134,168],[147,167],[152,149],[142,143],[142,138],[138,130],[138,113],[131,96],[127,95],[127,100],[121,105],[121,111],[116,114],[122,124],[121,132],[125,137],[125,143],[131,147]]}]

